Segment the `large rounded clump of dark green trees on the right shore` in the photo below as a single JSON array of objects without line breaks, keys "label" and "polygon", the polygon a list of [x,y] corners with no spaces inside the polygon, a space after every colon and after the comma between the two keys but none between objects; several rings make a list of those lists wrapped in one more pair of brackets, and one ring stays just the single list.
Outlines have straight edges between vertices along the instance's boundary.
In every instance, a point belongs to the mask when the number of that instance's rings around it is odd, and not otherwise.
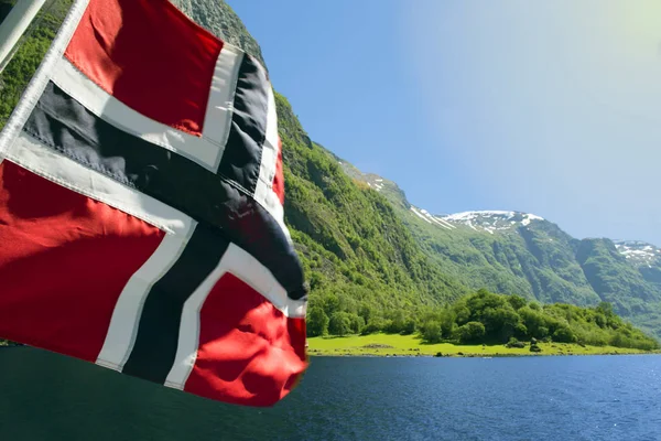
[{"label": "large rounded clump of dark green trees on the right shore", "polygon": [[463,297],[454,303],[419,318],[419,329],[430,343],[509,343],[542,341],[593,346],[659,348],[614,311],[610,303],[594,308],[572,304],[539,304],[520,295],[494,294],[487,290]]}]

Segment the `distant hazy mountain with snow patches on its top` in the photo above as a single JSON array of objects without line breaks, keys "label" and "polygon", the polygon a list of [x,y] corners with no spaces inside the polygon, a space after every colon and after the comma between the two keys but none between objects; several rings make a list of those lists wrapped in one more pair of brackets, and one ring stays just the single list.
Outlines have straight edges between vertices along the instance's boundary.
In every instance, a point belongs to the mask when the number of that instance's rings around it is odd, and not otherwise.
[{"label": "distant hazy mountain with snow patches on its top", "polygon": [[433,215],[410,204],[395,183],[338,162],[345,173],[384,195],[426,254],[470,289],[518,293],[545,303],[608,301],[619,314],[661,332],[659,248],[638,241],[578,240],[528,213]]}]

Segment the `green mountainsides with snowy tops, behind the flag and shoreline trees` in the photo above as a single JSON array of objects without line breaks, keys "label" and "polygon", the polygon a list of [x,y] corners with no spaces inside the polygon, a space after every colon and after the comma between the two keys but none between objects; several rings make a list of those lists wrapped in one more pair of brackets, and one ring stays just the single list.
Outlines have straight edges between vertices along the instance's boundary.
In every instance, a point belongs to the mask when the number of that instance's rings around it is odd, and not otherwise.
[{"label": "green mountainsides with snowy tops, behind the flag and shoreline trees", "polygon": [[[173,3],[264,62],[259,44],[224,1]],[[56,23],[58,14],[57,10],[44,23]],[[0,126],[53,29],[28,39],[9,74],[0,75],[0,84],[6,84],[0,90]],[[525,213],[430,214],[410,204],[394,182],[364,173],[313,142],[285,97],[277,94],[277,104],[285,222],[311,283],[311,334],[347,327],[412,332],[429,311],[484,288],[542,303],[608,301],[617,313],[661,335],[658,248],[578,240]]]}]

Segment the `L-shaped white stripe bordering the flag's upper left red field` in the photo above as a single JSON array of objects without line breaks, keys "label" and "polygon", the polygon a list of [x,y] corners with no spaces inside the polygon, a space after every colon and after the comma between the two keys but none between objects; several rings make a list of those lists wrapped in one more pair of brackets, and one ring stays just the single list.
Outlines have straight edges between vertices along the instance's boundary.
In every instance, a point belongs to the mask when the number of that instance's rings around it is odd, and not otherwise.
[{"label": "L-shaped white stripe bordering the flag's upper left red field", "polygon": [[[61,57],[54,68],[52,80],[90,112],[117,128],[155,146],[176,152],[207,170],[216,172],[229,132],[231,112],[224,107],[227,96],[234,97],[240,56],[236,50],[223,50],[209,90],[208,106],[213,111],[205,118],[203,137],[195,137],[155,121],[108,94],[85,76],[65,57]],[[231,103],[230,103],[231,105]],[[227,116],[229,114],[229,117]]]}]

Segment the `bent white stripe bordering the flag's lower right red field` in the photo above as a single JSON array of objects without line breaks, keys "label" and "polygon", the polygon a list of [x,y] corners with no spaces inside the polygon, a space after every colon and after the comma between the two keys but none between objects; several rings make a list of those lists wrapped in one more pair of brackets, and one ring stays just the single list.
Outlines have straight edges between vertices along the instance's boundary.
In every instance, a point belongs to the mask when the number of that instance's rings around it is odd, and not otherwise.
[{"label": "bent white stripe bordering the flag's lower right red field", "polygon": [[199,312],[216,282],[228,272],[262,294],[285,316],[305,318],[305,301],[290,299],[271,271],[242,248],[229,244],[218,266],[184,303],[176,356],[165,386],[183,389],[186,385],[199,346]]}]

